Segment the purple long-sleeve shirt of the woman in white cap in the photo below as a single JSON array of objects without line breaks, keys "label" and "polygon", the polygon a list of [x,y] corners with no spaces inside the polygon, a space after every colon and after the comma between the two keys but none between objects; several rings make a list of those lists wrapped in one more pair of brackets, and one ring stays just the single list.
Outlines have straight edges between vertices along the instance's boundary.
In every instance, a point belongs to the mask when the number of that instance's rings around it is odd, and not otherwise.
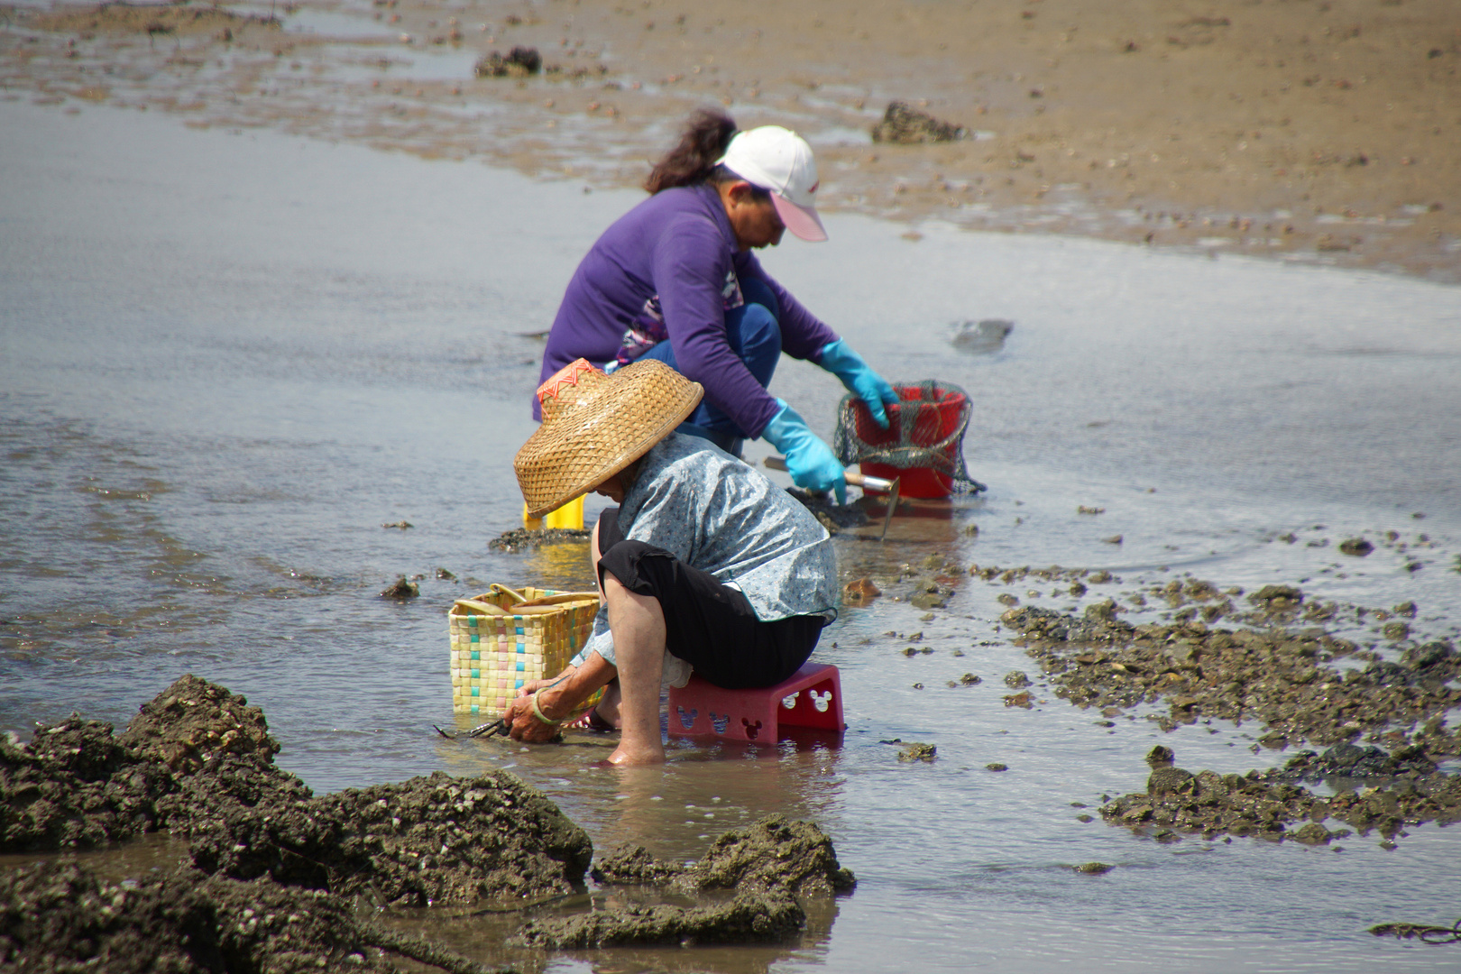
[{"label": "purple long-sleeve shirt of the woman in white cap", "polygon": [[[741,429],[761,435],[779,406],[726,342],[728,295],[738,295],[738,282],[748,276],[764,280],[780,302],[782,350],[818,361],[837,333],[776,283],[754,254],[736,250],[716,188],[656,193],[603,231],[579,264],[548,334],[539,381],[577,358],[602,367],[647,312],[662,315],[679,372],[704,386],[706,399]],[[533,397],[533,419],[541,418]]]}]

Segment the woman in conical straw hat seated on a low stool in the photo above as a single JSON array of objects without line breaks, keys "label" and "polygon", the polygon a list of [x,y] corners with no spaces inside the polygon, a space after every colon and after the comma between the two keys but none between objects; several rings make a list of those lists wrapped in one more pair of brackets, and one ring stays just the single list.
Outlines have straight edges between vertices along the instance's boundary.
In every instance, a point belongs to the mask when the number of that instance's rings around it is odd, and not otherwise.
[{"label": "woman in conical straw hat seated on a low stool", "polygon": [[513,460],[527,510],[587,492],[618,507],[593,529],[593,634],[562,673],[513,701],[513,739],[552,739],[608,686],[593,716],[622,732],[609,761],[660,762],[662,685],[694,672],[729,689],[773,686],[836,618],[827,530],[758,470],[675,432],[701,396],[655,359],[612,375],[579,359],[539,387],[543,423]]}]

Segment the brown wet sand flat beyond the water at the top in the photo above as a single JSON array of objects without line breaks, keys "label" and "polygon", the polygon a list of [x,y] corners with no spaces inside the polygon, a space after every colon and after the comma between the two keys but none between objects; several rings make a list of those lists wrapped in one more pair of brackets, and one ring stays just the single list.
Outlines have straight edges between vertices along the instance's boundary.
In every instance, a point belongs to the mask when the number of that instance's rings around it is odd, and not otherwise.
[{"label": "brown wet sand flat beyond the water at the top", "polygon": [[[592,185],[637,184],[690,110],[720,104],[804,131],[831,212],[1461,280],[1448,0],[384,0],[288,4],[282,28],[232,10],[0,7],[0,86]],[[514,45],[545,73],[472,76]],[[967,137],[874,145],[893,99]]]}]

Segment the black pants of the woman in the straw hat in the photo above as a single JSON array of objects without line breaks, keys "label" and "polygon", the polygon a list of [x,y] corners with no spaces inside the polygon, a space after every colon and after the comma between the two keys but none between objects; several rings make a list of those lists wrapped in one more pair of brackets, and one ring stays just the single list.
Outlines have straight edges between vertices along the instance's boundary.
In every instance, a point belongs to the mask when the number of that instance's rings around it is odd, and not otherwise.
[{"label": "black pants of the woman in the straw hat", "polygon": [[653,596],[665,612],[665,648],[725,689],[780,683],[812,654],[825,625],[821,616],[761,622],[739,590],[663,548],[627,540],[617,507],[599,514],[600,584],[603,572],[636,594]]}]

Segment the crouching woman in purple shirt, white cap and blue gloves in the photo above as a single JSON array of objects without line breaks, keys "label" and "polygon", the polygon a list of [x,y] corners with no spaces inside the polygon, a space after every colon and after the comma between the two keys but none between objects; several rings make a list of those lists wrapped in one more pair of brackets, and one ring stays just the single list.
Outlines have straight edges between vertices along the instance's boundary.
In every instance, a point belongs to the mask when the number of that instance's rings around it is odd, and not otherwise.
[{"label": "crouching woman in purple shirt, white cap and blue gloves", "polygon": [[[844,501],[831,448],[766,391],[777,359],[786,352],[836,374],[884,428],[884,403],[897,393],[751,253],[779,244],[787,229],[827,239],[817,185],[812,150],[795,133],[738,131],[723,112],[698,112],[650,172],[650,197],[579,264],[548,334],[542,378],[577,358],[609,371],[656,358],[706,388],[681,432],[733,456],[744,440],[763,437],[786,456],[798,486]],[[536,399],[533,412],[541,418]]]}]

